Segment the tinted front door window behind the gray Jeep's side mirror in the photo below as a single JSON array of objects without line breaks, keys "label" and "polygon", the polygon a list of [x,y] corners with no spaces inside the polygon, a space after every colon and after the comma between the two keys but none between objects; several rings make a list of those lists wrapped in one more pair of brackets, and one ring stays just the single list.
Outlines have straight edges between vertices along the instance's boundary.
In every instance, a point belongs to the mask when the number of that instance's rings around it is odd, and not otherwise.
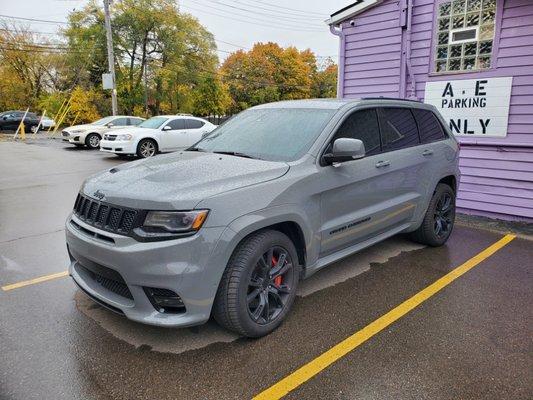
[{"label": "tinted front door window behind the gray Jeep's side mirror", "polygon": [[379,142],[379,125],[375,109],[356,111],[340,126],[334,139],[359,139],[365,144],[366,155],[371,156],[381,151]]}]

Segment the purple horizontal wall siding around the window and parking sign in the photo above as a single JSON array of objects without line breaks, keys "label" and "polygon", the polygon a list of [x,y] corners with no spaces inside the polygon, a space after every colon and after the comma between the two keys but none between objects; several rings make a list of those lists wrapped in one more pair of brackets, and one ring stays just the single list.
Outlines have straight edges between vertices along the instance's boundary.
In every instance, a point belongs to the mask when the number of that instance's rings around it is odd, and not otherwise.
[{"label": "purple horizontal wall siding around the window and parking sign", "polygon": [[[413,2],[411,65],[419,99],[424,98],[426,81],[514,77],[507,137],[487,138],[501,146],[483,146],[484,138],[460,139],[464,145],[459,209],[533,221],[533,1],[505,0],[499,4],[501,21],[493,68],[482,73],[445,75],[431,73],[436,1]],[[399,15],[398,1],[385,1],[356,17],[355,27],[344,24],[345,97],[404,96],[400,93],[399,78],[402,48]],[[410,87],[410,77],[406,81],[406,87]]]}]

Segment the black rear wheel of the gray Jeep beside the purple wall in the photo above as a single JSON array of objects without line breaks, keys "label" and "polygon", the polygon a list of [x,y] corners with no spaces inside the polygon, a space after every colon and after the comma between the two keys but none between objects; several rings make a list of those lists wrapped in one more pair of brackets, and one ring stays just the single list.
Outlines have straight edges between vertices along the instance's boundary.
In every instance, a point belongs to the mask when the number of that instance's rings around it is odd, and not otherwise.
[{"label": "black rear wheel of the gray Jeep beside the purple wall", "polygon": [[442,246],[450,237],[455,222],[455,192],[439,183],[429,202],[420,227],[411,233],[415,242],[432,247]]}]

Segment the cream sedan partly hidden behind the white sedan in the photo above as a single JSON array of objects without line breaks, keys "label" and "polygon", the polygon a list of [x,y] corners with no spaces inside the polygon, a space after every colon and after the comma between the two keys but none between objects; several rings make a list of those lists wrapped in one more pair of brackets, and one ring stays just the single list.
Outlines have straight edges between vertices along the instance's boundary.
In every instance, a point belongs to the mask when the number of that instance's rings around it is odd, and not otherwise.
[{"label": "cream sedan partly hidden behind the white sedan", "polygon": [[97,149],[100,140],[105,132],[124,129],[128,126],[137,126],[144,121],[144,118],[129,115],[115,115],[105,117],[91,124],[74,125],[63,129],[61,135],[63,141],[76,146],[87,146],[90,149]]}]

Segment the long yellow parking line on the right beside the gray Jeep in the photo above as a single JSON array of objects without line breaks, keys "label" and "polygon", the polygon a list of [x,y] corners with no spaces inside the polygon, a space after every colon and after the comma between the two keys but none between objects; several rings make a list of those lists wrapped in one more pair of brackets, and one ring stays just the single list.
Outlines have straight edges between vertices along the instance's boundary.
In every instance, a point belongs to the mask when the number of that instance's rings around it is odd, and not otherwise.
[{"label": "long yellow parking line on the right beside the gray Jeep", "polygon": [[481,253],[472,257],[470,260],[455,268],[448,274],[444,275],[442,278],[436,280],[434,283],[432,283],[422,291],[418,292],[413,297],[404,301],[396,308],[392,309],[374,322],[371,322],[369,325],[365,326],[360,331],[354,333],[352,336],[349,336],[348,338],[344,339],[342,342],[333,346],[331,349],[322,353],[320,356],[305,364],[303,367],[300,367],[299,369],[286,376],[279,382],[275,383],[273,386],[269,387],[265,391],[259,393],[257,396],[254,397],[254,400],[281,399],[290,391],[296,389],[298,386],[302,385],[303,383],[317,375],[320,371],[326,369],[335,361],[344,357],[346,354],[354,350],[362,343],[366,342],[372,336],[381,332],[387,326],[391,325],[394,321],[400,319],[402,316],[413,310],[415,307],[422,304],[431,296],[448,286],[461,275],[465,274],[466,272],[474,268],[476,265],[481,263],[483,260],[493,255],[495,252],[504,247],[514,238],[514,235],[504,236],[502,239],[498,240],[493,245],[487,247]]}]

